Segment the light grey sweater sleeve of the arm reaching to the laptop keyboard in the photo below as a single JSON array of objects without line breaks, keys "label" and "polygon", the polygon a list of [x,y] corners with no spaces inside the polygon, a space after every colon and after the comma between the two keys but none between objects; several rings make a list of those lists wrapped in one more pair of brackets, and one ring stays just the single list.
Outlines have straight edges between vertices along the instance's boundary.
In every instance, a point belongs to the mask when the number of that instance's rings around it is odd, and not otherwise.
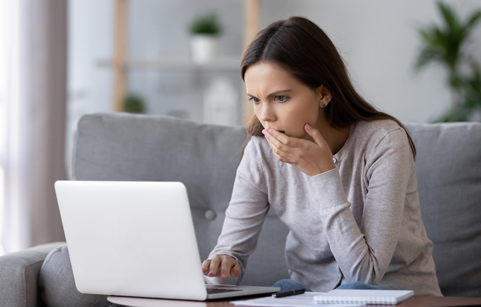
[{"label": "light grey sweater sleeve of the arm reaching to the laptop keyboard", "polygon": [[262,224],[269,211],[268,196],[262,166],[259,162],[255,140],[247,144],[237,169],[231,201],[225,212],[217,245],[209,254],[227,254],[238,260],[241,275],[221,280],[205,276],[211,284],[239,284],[244,274],[247,258],[255,250]]}]

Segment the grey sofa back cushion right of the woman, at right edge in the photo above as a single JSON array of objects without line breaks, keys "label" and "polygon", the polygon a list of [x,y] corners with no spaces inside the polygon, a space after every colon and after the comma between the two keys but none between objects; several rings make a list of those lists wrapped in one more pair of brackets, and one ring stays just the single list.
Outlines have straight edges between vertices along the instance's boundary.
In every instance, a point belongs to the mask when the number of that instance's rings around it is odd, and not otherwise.
[{"label": "grey sofa back cushion right of the woman, at right edge", "polygon": [[481,297],[481,124],[408,124],[441,291]]}]

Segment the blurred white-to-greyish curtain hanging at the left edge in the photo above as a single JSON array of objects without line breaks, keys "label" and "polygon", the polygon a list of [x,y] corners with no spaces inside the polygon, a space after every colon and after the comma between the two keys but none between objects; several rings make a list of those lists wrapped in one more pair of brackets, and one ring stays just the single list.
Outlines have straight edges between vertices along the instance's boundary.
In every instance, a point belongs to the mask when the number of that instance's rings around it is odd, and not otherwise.
[{"label": "blurred white-to-greyish curtain hanging at the left edge", "polygon": [[67,0],[3,1],[5,252],[63,241]]}]

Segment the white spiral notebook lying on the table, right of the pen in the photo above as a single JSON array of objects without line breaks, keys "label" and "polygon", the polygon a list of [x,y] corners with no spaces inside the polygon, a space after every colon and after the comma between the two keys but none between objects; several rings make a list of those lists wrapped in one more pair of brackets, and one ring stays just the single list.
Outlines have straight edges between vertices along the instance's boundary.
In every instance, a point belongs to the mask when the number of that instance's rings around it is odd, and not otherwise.
[{"label": "white spiral notebook lying on the table, right of the pen", "polygon": [[336,289],[314,296],[322,304],[390,304],[395,305],[414,295],[411,290],[349,290]]}]

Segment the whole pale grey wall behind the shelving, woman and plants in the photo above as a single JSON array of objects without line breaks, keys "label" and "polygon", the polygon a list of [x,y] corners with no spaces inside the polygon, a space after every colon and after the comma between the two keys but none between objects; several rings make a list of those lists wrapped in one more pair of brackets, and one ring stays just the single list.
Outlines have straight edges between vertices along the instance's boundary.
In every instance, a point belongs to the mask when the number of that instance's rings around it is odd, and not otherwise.
[{"label": "whole pale grey wall behind the shelving, woman and plants", "polygon": [[[481,8],[481,0],[445,2],[463,17]],[[69,127],[80,114],[111,108],[111,70],[96,61],[112,56],[113,4],[113,0],[70,0]],[[240,58],[240,0],[131,0],[128,5],[131,57],[188,57],[186,25],[193,16],[216,10],[226,27],[219,56]],[[261,10],[262,26],[290,15],[316,22],[337,46],[361,94],[401,121],[428,122],[449,106],[444,70],[432,65],[415,75],[412,69],[420,47],[417,28],[440,22],[434,0],[261,0]],[[476,44],[471,50],[480,50],[481,25],[473,37]],[[481,53],[476,56],[481,62]],[[238,85],[239,104],[243,103],[239,73],[225,77]],[[202,120],[202,91],[212,78],[212,73],[132,69],[128,82],[132,92],[145,96],[151,113],[188,110],[186,117]]]}]

